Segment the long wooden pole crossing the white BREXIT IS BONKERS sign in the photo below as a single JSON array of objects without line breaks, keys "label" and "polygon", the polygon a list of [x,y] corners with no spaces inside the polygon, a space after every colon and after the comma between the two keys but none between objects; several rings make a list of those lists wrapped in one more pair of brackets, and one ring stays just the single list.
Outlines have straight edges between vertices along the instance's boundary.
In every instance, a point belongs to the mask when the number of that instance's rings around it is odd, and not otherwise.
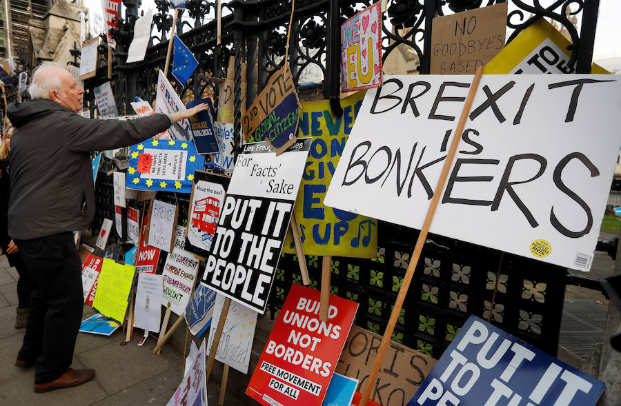
[{"label": "long wooden pole crossing the white BREXIT IS BONKERS sign", "polygon": [[362,392],[362,398],[360,399],[359,406],[366,406],[368,398],[371,396],[371,392],[373,392],[373,388],[375,387],[377,374],[380,372],[380,367],[382,367],[382,361],[384,361],[386,349],[388,349],[388,345],[391,342],[391,337],[393,336],[393,331],[395,330],[395,325],[397,324],[397,318],[399,318],[401,308],[403,307],[406,295],[408,294],[408,288],[410,287],[412,277],[414,276],[414,271],[416,270],[416,265],[418,264],[418,260],[420,259],[420,253],[422,252],[423,244],[427,239],[427,233],[429,232],[429,227],[431,226],[431,221],[433,220],[433,215],[435,214],[435,209],[437,207],[437,204],[440,203],[440,195],[442,194],[442,190],[444,190],[446,178],[449,176],[449,170],[451,169],[453,158],[455,157],[455,152],[457,152],[457,145],[459,145],[460,139],[462,138],[464,125],[466,124],[466,119],[468,118],[472,101],[474,99],[475,93],[477,92],[477,88],[479,87],[479,81],[481,80],[482,75],[483,68],[477,68],[477,72],[472,81],[472,85],[470,86],[468,98],[466,99],[464,109],[462,110],[462,116],[460,116],[460,121],[459,123],[457,123],[457,130],[455,130],[455,134],[453,134],[451,148],[449,149],[449,153],[446,154],[446,159],[444,160],[444,165],[442,166],[440,180],[435,186],[435,191],[433,192],[433,199],[431,199],[431,203],[429,205],[427,215],[425,216],[422,230],[420,230],[420,234],[418,235],[418,240],[416,241],[414,252],[412,254],[412,259],[408,264],[408,269],[406,270],[406,274],[403,278],[403,283],[401,285],[401,289],[399,290],[399,294],[397,295],[397,301],[395,301],[395,306],[393,307],[391,318],[388,320],[386,332],[384,332],[384,336],[382,337],[382,343],[380,344],[380,348],[377,351],[377,356],[375,357],[375,363],[373,363],[371,373],[366,380],[366,385],[364,386],[364,392]]}]

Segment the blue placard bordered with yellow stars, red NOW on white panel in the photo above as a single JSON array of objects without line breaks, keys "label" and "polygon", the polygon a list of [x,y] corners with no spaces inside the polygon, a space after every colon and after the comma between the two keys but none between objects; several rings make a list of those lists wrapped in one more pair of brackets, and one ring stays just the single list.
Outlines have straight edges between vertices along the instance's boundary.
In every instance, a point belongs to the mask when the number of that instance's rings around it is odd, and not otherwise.
[{"label": "blue placard bordered with yellow stars, red NOW on white panel", "polygon": [[194,172],[205,157],[192,141],[148,139],[130,147],[126,186],[137,190],[191,193]]}]

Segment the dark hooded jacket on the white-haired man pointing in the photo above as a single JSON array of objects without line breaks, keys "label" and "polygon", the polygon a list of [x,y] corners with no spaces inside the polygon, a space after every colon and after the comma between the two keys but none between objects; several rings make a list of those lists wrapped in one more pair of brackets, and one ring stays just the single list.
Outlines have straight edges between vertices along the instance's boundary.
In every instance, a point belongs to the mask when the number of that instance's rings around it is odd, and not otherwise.
[{"label": "dark hooded jacket on the white-haired man pointing", "polygon": [[95,214],[90,151],[144,141],[170,127],[166,114],[95,120],[46,99],[12,103],[8,234],[28,240],[83,230]]}]

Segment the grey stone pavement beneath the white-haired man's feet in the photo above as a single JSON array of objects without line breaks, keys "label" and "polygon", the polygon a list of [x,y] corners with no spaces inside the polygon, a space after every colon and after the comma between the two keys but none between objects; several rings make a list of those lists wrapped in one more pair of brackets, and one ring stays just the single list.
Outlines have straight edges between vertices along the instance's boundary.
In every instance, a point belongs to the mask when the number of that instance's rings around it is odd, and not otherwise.
[{"label": "grey stone pavement beneath the white-haired man's feet", "polygon": [[[153,354],[155,339],[149,337],[138,347],[139,330],[128,345],[121,328],[112,336],[79,333],[72,367],[95,369],[95,379],[68,389],[46,394],[34,393],[34,367],[24,371],[14,366],[24,329],[14,329],[17,307],[17,272],[6,256],[0,256],[0,405],[166,405],[183,375],[181,353],[165,345]],[[84,307],[83,318],[94,314]],[[141,330],[140,330],[141,332]],[[208,404],[217,405],[219,385],[208,385]],[[242,395],[243,396],[243,395]],[[227,405],[239,400],[226,395]]]}]

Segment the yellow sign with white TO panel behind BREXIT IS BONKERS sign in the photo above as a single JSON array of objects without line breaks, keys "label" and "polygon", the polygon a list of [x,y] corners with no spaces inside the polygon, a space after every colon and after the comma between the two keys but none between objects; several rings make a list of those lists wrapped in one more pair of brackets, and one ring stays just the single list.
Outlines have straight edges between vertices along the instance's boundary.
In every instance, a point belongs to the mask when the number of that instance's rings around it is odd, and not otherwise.
[{"label": "yellow sign with white TO panel behind BREXIT IS BONKERS sign", "polygon": [[[506,44],[483,73],[575,73],[575,66],[567,65],[571,57],[567,45],[569,41],[558,30],[544,19],[538,19]],[[591,73],[610,72],[593,63]]]}]

